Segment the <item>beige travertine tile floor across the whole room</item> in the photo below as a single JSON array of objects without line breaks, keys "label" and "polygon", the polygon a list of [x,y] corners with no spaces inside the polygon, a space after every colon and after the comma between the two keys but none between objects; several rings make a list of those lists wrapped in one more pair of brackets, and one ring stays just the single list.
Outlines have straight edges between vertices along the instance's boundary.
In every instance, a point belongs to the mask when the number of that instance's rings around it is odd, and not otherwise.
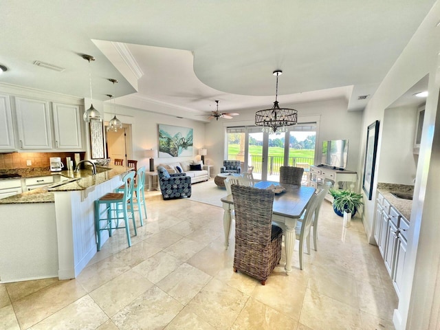
[{"label": "beige travertine tile floor across the whole room", "polygon": [[[223,209],[147,194],[148,220],[127,248],[113,235],[78,278],[0,284],[0,329],[394,329],[397,307],[377,247],[362,223],[324,201],[318,252],[265,286],[232,271]],[[283,253],[284,255],[284,253]]]}]

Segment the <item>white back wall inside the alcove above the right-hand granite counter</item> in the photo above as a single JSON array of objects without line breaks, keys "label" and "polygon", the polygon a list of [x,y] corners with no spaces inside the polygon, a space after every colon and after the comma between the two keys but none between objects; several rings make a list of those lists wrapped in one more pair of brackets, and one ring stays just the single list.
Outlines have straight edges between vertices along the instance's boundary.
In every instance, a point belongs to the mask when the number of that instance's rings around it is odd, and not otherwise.
[{"label": "white back wall inside the alcove above the right-hand granite counter", "polygon": [[416,122],[416,106],[385,110],[377,182],[414,185],[419,159],[413,153]]}]

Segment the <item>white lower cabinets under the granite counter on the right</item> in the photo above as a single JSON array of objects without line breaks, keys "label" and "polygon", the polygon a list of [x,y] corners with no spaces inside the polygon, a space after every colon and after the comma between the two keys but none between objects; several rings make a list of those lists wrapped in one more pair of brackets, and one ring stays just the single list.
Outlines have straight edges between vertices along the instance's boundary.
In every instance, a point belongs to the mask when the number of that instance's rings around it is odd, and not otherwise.
[{"label": "white lower cabinets under the granite counter on the right", "polygon": [[374,238],[398,297],[405,270],[408,229],[408,220],[378,192]]}]

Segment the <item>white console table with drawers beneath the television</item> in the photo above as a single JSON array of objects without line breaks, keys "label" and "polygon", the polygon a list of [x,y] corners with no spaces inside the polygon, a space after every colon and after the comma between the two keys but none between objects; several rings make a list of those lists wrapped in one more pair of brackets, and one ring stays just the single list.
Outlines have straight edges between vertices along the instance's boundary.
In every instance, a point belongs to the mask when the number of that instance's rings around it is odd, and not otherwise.
[{"label": "white console table with drawers beneath the television", "polygon": [[[331,181],[336,189],[342,189],[344,184],[347,186],[347,183],[349,183],[349,189],[354,190],[356,181],[358,181],[358,173],[352,170],[338,170],[325,166],[310,166],[310,173],[310,186],[315,188],[324,185],[327,181]],[[326,199],[331,199],[331,195],[327,195]]]}]

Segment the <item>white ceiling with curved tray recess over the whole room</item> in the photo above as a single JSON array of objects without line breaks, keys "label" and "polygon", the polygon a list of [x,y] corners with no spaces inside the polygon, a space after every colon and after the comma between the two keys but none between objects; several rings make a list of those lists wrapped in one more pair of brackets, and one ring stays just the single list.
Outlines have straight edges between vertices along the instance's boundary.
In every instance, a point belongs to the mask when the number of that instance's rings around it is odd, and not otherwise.
[{"label": "white ceiling with curved tray recess over the whole room", "polygon": [[0,83],[89,98],[91,72],[94,99],[114,91],[118,104],[206,120],[214,100],[271,107],[281,69],[281,106],[346,98],[362,110],[434,2],[3,0]]}]

